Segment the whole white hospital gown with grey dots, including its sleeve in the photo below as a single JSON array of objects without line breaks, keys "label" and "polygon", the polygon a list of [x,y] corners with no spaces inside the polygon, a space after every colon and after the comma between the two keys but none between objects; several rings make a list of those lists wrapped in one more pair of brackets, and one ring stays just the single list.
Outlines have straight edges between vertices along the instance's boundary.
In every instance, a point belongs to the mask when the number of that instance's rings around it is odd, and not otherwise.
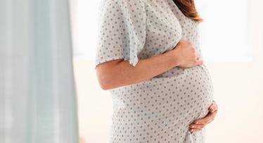
[{"label": "whole white hospital gown with grey dots, including its sleeve", "polygon": [[[180,40],[191,41],[201,54],[198,23],[172,0],[104,0],[99,26],[96,65],[124,58],[136,66],[140,59],[172,50]],[[110,143],[205,142],[205,128],[188,131],[212,104],[212,80],[205,64],[174,67],[109,91],[114,108]]]}]

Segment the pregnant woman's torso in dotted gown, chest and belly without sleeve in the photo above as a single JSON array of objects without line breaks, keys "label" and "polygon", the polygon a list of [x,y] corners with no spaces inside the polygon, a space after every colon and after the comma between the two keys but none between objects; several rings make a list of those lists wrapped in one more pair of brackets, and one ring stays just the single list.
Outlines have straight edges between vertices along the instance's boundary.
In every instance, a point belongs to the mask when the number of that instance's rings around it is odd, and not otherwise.
[{"label": "pregnant woman's torso in dotted gown, chest and belly without sleeve", "polygon": [[[181,39],[191,41],[203,58],[197,22],[186,18],[172,0],[145,0],[145,4],[146,44],[140,59],[172,50]],[[203,132],[190,135],[188,125],[208,113],[213,87],[203,64],[174,67],[138,84],[110,89],[110,93],[114,107],[112,142],[136,142],[133,136],[140,141],[144,137],[145,142],[190,142],[187,139],[192,136],[202,138]]]}]

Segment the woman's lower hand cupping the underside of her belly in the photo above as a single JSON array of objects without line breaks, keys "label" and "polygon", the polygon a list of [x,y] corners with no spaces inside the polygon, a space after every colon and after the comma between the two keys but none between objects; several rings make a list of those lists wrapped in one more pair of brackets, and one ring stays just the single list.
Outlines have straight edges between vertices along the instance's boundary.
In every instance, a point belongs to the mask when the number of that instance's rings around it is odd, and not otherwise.
[{"label": "woman's lower hand cupping the underside of her belly", "polygon": [[193,134],[193,132],[198,132],[202,130],[205,127],[205,125],[211,123],[212,120],[214,120],[214,117],[217,115],[217,108],[218,108],[217,103],[213,101],[210,107],[208,108],[209,113],[207,113],[207,116],[205,116],[204,118],[195,120],[193,121],[193,123],[189,125],[190,126],[189,130],[191,134]]}]

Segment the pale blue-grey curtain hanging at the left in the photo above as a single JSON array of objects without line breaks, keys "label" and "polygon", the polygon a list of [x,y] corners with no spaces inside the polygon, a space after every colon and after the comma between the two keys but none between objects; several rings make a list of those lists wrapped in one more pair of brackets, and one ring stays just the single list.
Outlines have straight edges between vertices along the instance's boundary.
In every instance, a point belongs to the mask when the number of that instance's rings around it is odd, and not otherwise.
[{"label": "pale blue-grey curtain hanging at the left", "polygon": [[0,142],[77,143],[67,0],[0,0]]}]

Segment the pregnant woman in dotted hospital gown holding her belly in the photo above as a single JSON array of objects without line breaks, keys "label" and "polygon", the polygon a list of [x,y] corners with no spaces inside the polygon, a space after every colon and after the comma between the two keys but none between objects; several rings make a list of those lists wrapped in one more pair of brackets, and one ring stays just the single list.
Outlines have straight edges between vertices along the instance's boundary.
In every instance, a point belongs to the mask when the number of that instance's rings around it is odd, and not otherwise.
[{"label": "pregnant woman in dotted hospital gown holding her belly", "polygon": [[205,142],[217,113],[193,0],[104,0],[96,72],[113,99],[110,142]]}]

